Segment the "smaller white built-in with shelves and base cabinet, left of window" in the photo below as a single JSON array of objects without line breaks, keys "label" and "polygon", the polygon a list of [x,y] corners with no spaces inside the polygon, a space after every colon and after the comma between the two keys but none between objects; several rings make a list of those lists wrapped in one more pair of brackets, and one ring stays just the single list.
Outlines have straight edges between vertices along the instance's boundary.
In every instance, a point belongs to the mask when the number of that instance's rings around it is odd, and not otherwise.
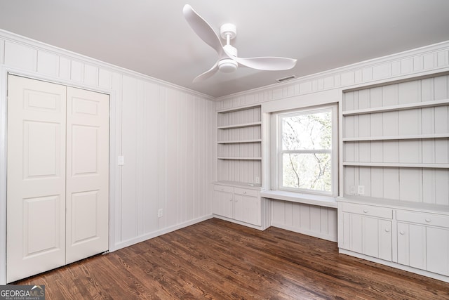
[{"label": "smaller white built-in with shelves and base cabinet, left of window", "polygon": [[217,112],[215,217],[264,230],[269,202],[260,197],[262,115],[260,105]]}]

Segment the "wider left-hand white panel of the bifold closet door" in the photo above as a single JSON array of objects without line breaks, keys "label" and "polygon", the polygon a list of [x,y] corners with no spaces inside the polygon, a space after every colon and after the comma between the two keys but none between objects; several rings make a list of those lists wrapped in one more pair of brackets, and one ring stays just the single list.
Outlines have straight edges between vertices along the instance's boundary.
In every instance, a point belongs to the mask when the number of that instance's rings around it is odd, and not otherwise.
[{"label": "wider left-hand white panel of the bifold closet door", "polygon": [[7,282],[65,264],[65,99],[8,77]]}]

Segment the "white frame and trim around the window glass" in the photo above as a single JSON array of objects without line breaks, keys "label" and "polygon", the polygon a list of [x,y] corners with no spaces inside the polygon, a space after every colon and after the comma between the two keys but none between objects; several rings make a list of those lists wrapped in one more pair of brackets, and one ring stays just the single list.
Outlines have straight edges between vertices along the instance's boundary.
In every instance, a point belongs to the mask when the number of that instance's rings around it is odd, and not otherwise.
[{"label": "white frame and trim around the window glass", "polygon": [[[293,115],[297,114],[298,112],[306,114],[315,113],[315,112],[321,112],[323,110],[331,110],[332,112],[332,191],[331,192],[323,192],[323,191],[314,191],[314,190],[297,190],[297,189],[288,189],[288,188],[280,188],[281,183],[281,172],[280,170],[280,164],[281,164],[281,155],[279,155],[279,148],[282,145],[281,140],[281,126],[279,126],[279,120],[281,117],[284,117],[286,115]],[[272,112],[272,119],[271,119],[271,128],[272,128],[272,153],[270,156],[270,159],[272,160],[272,174],[271,174],[271,181],[272,181],[272,190],[279,190],[279,191],[286,191],[289,193],[297,193],[297,194],[311,194],[311,195],[322,195],[322,196],[331,196],[331,197],[337,197],[338,196],[338,107],[337,104],[331,104],[331,105],[319,105],[319,106],[313,106],[313,107],[300,107],[294,110],[283,110],[278,112]],[[311,152],[309,150],[303,150],[305,152]],[[324,150],[325,152],[328,152],[328,150]],[[285,152],[285,151],[284,151]],[[297,152],[297,151],[295,151]],[[302,152],[302,151],[301,151]],[[319,151],[314,151],[319,152]]]}]

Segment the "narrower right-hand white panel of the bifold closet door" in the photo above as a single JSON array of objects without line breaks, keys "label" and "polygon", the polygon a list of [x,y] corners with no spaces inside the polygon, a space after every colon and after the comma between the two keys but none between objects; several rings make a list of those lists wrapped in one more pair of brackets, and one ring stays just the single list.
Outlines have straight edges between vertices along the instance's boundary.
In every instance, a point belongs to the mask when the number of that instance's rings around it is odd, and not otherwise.
[{"label": "narrower right-hand white panel of the bifold closet door", "polygon": [[66,263],[108,249],[109,96],[67,87]]}]

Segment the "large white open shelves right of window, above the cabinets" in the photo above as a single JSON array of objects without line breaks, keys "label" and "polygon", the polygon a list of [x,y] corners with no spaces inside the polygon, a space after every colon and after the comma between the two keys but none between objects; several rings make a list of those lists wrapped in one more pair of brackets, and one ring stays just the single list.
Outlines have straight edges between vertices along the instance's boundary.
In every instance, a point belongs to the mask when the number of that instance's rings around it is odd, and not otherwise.
[{"label": "large white open shelves right of window, above the cabinets", "polygon": [[349,91],[342,105],[344,195],[449,206],[448,76]]}]

